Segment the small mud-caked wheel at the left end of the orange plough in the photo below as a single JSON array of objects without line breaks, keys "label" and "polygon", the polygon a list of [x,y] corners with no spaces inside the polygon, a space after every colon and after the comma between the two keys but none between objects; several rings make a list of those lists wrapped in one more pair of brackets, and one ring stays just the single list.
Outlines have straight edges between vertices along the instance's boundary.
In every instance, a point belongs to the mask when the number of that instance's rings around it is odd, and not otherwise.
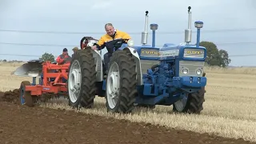
[{"label": "small mud-caked wheel at the left end of the orange plough", "polygon": [[34,106],[34,101],[33,98],[30,94],[30,91],[26,91],[26,86],[31,86],[30,82],[28,81],[23,81],[20,86],[20,103],[21,105],[26,105],[26,106]]}]

